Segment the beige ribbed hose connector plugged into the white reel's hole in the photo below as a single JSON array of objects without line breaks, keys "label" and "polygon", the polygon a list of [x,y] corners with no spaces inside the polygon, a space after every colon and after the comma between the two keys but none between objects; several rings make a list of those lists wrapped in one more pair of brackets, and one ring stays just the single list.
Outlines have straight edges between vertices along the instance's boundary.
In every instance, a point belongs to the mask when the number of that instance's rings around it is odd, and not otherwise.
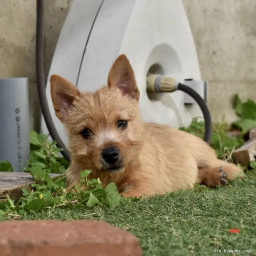
[{"label": "beige ribbed hose connector plugged into the white reel's hole", "polygon": [[178,88],[178,82],[171,78],[161,75],[148,74],[147,75],[147,91],[153,93],[159,92],[173,92]]}]

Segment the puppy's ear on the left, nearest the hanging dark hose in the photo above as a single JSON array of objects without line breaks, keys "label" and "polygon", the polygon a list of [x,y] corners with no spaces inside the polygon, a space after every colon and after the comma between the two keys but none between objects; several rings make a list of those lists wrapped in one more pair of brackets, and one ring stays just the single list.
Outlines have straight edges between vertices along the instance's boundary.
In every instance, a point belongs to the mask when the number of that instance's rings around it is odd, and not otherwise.
[{"label": "puppy's ear on the left, nearest the hanging dark hose", "polygon": [[63,123],[72,107],[73,101],[81,96],[81,92],[75,85],[61,76],[52,75],[50,81],[51,97],[55,114]]}]

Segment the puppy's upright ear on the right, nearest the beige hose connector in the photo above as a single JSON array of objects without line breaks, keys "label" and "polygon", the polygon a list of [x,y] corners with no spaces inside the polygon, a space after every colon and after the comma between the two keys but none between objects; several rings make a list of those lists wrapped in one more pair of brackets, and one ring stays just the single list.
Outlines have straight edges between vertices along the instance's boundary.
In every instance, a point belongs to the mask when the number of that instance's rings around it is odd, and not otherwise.
[{"label": "puppy's upright ear on the right, nearest the beige hose connector", "polygon": [[140,91],[136,84],[133,68],[126,55],[122,54],[115,60],[109,71],[108,86],[117,87],[124,95],[139,100]]}]

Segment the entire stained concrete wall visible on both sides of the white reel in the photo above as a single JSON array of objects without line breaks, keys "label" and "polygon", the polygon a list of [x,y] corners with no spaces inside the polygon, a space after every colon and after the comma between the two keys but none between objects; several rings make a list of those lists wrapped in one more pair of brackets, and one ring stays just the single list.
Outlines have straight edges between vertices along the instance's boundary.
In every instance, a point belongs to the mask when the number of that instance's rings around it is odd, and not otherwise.
[{"label": "entire stained concrete wall visible on both sides of the white reel", "polygon": [[[45,0],[45,72],[72,0]],[[232,96],[256,101],[256,1],[183,0],[213,121],[236,120]],[[0,77],[28,77],[30,124],[39,128],[35,73],[36,0],[0,1]]]}]

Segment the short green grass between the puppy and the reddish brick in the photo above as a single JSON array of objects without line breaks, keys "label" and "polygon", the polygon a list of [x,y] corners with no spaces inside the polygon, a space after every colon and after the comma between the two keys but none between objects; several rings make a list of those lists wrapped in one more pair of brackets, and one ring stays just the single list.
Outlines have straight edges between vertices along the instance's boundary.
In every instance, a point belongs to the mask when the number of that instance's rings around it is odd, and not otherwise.
[{"label": "short green grass between the puppy and the reddish brick", "polygon": [[[121,202],[113,210],[47,209],[31,212],[26,219],[105,220],[137,236],[146,256],[208,256],[217,249],[251,250],[250,255],[256,255],[256,172],[216,190]],[[241,233],[229,233],[234,228]]]}]

